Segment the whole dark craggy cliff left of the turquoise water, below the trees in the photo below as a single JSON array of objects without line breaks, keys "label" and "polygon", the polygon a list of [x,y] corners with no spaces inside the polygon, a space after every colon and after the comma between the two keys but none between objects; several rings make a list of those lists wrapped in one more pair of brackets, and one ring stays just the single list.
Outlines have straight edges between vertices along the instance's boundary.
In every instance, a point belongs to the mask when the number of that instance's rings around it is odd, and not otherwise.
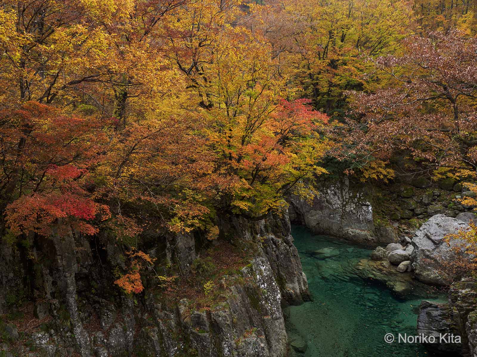
[{"label": "whole dark craggy cliff left of the turquoise water, below the trees", "polygon": [[[13,348],[20,356],[29,356],[30,349],[46,356],[76,352],[82,357],[285,356],[288,338],[281,307],[311,298],[288,212],[259,221],[228,217],[220,228],[249,242],[251,258],[241,271],[221,278],[214,302],[203,309],[196,308],[193,298],[171,303],[156,284],[147,282],[144,297],[113,301],[106,294],[92,295],[83,287],[83,278],[96,274],[87,240],[73,234],[44,238],[41,247],[48,249],[42,254],[48,256],[39,272],[45,293],[35,309],[44,327],[29,332],[26,345],[1,348]],[[158,256],[158,250],[150,251]],[[190,270],[197,256],[195,239],[167,238],[162,254],[181,272]]]}]

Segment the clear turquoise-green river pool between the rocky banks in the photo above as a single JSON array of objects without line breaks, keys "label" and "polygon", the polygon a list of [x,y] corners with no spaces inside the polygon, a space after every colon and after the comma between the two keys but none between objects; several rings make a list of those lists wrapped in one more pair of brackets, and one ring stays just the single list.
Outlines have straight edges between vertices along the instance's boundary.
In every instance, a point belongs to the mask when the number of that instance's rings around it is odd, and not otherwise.
[{"label": "clear turquoise-green river pool between the rocky banks", "polygon": [[[398,343],[398,334],[416,335],[421,300],[444,301],[444,294],[420,293],[398,299],[385,286],[357,277],[353,267],[369,258],[370,249],[314,236],[307,228],[292,227],[303,271],[314,301],[284,310],[289,336],[300,335],[308,344],[303,357],[411,357],[431,356],[420,344]],[[336,256],[317,259],[311,251],[335,248]],[[393,333],[396,341],[384,342]]]}]

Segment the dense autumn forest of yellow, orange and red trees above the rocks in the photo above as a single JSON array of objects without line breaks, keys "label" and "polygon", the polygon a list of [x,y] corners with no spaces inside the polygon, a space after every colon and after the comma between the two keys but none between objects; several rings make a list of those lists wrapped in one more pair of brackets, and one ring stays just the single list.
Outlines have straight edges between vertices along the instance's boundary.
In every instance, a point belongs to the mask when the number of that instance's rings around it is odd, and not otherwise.
[{"label": "dense autumn forest of yellow, orange and red trees above the rocks", "polygon": [[30,271],[73,232],[139,296],[152,241],[229,242],[323,180],[477,192],[474,0],[4,0],[0,54],[0,236]]}]

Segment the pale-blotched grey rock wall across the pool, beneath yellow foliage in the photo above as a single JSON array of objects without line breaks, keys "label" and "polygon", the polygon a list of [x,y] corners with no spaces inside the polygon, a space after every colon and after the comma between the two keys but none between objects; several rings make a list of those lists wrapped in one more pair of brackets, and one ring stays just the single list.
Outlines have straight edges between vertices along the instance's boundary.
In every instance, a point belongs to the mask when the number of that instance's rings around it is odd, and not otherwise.
[{"label": "pale-blotched grey rock wall across the pool, beneath yellow foliage", "polygon": [[347,178],[318,188],[311,203],[292,195],[290,217],[317,234],[377,245],[394,242],[392,228],[378,229],[373,224],[373,208],[363,190],[350,188]]}]

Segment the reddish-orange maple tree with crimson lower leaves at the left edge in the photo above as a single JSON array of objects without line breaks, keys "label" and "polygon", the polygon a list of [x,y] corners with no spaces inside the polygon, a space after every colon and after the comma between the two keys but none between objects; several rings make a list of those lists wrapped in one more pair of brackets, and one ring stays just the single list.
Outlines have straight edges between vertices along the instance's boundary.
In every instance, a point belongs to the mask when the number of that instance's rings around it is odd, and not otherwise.
[{"label": "reddish-orange maple tree with crimson lower leaves at the left edge", "polygon": [[52,227],[93,234],[109,209],[94,202],[89,169],[105,139],[90,118],[25,102],[1,114],[3,209],[11,234],[51,234]]}]

